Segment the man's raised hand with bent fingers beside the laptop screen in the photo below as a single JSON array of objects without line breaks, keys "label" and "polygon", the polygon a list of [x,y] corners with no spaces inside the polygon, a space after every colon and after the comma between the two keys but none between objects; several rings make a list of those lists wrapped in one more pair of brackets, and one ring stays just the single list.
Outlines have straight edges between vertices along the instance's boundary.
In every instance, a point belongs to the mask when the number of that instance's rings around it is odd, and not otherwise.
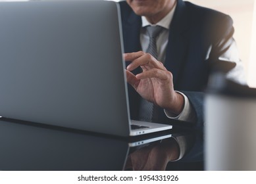
[{"label": "man's raised hand with bent fingers beside the laptop screen", "polygon": [[[126,53],[124,59],[131,62],[126,68],[127,81],[143,99],[174,114],[182,112],[184,97],[174,91],[172,73],[162,62],[142,51]],[[131,71],[138,67],[143,72],[135,76]]]}]

